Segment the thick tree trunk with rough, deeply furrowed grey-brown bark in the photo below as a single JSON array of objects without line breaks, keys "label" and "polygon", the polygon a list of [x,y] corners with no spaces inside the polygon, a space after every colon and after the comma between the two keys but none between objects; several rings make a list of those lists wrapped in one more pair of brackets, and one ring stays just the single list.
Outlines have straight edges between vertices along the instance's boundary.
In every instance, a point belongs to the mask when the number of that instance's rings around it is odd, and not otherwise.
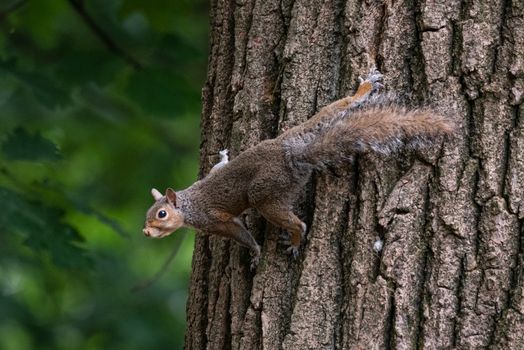
[{"label": "thick tree trunk with rough, deeply furrowed grey-brown bark", "polygon": [[186,348],[524,349],[523,18],[522,0],[213,0],[202,174],[351,94],[373,62],[459,133],[315,176],[295,261],[255,211],[254,272],[247,249],[197,236]]}]

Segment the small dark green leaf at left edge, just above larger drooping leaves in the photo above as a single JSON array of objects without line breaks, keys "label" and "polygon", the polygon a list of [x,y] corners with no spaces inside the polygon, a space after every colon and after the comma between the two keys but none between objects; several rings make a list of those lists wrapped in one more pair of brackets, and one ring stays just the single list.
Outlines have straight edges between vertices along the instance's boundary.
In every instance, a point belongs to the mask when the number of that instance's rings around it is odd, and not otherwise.
[{"label": "small dark green leaf at left edge, just above larger drooping leaves", "polygon": [[2,143],[2,152],[11,160],[58,160],[61,158],[56,145],[39,133],[31,135],[18,127]]}]

